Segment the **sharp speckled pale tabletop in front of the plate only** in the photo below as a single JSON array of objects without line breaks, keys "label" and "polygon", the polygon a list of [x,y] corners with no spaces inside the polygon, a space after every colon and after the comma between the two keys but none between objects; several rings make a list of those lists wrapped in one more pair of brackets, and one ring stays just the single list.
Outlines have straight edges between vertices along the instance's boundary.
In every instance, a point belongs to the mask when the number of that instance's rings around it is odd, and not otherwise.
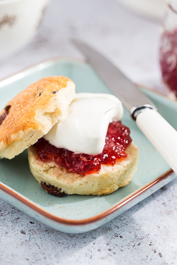
[{"label": "sharp speckled pale tabletop in front of the plate only", "polygon": [[177,264],[177,181],[94,231],[67,234],[0,202],[1,265]]}]

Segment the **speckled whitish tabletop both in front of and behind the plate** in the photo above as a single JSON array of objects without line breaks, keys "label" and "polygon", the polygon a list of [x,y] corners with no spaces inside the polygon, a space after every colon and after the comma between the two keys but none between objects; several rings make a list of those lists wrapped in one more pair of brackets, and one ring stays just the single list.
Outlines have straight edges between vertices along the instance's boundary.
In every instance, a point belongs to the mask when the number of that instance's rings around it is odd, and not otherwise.
[{"label": "speckled whitish tabletop both in front of and behind the plate", "polygon": [[[160,90],[159,23],[137,17],[116,1],[53,0],[35,39],[0,62],[0,77],[59,55],[82,55],[81,37],[132,78]],[[0,201],[0,264],[177,264],[177,180],[112,222],[66,234]]]}]

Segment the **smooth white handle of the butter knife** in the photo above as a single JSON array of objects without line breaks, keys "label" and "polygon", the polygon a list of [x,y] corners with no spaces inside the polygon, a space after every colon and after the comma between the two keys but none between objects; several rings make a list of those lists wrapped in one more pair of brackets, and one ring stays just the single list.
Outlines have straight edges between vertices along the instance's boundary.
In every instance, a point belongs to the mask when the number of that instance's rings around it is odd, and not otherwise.
[{"label": "smooth white handle of the butter knife", "polygon": [[152,109],[140,112],[136,124],[177,174],[177,131]]}]

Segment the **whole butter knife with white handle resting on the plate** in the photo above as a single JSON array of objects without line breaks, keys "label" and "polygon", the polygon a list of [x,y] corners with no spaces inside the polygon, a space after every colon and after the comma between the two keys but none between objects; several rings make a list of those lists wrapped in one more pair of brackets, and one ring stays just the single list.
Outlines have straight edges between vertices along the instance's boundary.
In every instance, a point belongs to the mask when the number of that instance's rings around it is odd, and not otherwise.
[{"label": "whole butter knife with white handle resting on the plate", "polygon": [[112,62],[81,40],[73,39],[73,43],[119,97],[140,130],[177,174],[177,131],[158,113],[154,103]]}]

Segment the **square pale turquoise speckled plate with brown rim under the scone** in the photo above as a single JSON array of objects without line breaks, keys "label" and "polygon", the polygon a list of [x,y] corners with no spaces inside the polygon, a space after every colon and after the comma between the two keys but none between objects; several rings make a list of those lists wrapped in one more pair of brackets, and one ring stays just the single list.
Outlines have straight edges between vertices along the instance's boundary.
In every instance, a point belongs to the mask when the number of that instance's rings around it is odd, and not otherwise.
[{"label": "square pale turquoise speckled plate with brown rim under the scone", "polygon": [[[76,92],[111,93],[93,68],[72,59],[54,59],[37,64],[0,82],[0,107],[27,85],[50,75],[65,75],[76,84]],[[158,107],[160,114],[177,129],[177,102],[142,89]],[[63,198],[46,193],[28,167],[27,151],[12,160],[0,160],[0,198],[42,223],[59,231],[82,233],[112,220],[142,201],[176,175],[124,110],[122,122],[130,127],[140,149],[139,165],[133,180],[107,196],[69,195]]]}]

